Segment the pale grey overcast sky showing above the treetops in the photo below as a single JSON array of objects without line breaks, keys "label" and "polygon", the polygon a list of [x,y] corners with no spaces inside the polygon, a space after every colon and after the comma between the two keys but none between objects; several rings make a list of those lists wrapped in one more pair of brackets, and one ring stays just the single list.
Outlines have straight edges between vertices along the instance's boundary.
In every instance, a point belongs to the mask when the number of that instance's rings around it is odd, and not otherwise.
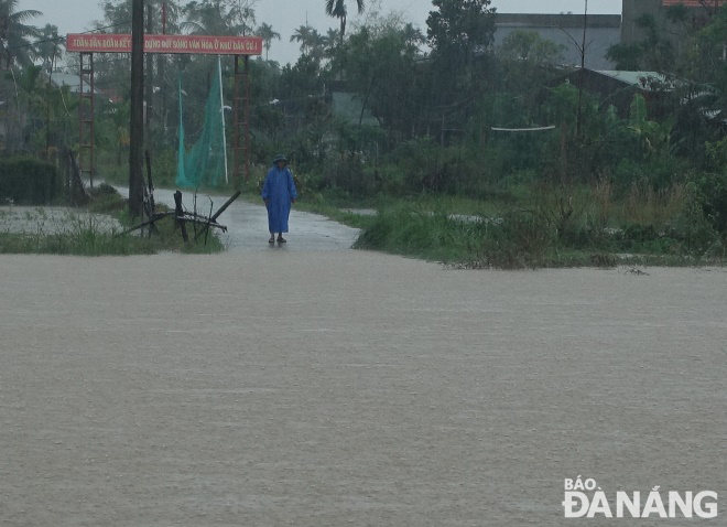
[{"label": "pale grey overcast sky showing above the treetops", "polygon": [[[356,4],[354,0],[348,2]],[[186,3],[186,0],[182,0],[182,3]],[[433,9],[431,0],[365,0],[365,4],[384,15],[392,11],[401,13],[405,21],[413,22],[424,33],[426,17]],[[324,0],[258,0],[258,25],[267,22],[281,34],[281,40],[273,41],[270,46],[269,57],[281,64],[297,58],[297,44],[291,43],[290,37],[296,28],[306,23],[306,18],[308,24],[323,34],[328,28],[338,28],[337,20],[325,15],[324,6]],[[492,6],[502,13],[580,13],[584,10],[584,0],[495,0]],[[93,21],[102,17],[100,2],[97,0],[20,0],[18,9],[42,11],[43,15],[34,19],[32,23],[39,26],[55,24],[61,34],[84,32],[91,26]],[[589,0],[588,12],[620,13],[621,0]],[[357,20],[360,20],[358,15],[349,15],[349,26]]]}]

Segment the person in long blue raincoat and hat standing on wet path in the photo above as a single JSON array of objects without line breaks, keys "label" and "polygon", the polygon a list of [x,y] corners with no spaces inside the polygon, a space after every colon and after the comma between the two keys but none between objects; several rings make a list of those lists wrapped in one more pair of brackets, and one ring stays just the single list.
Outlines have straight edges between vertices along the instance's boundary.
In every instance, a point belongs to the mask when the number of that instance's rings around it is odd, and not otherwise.
[{"label": "person in long blue raincoat and hat standing on wet path", "polygon": [[293,174],[286,166],[285,155],[279,154],[273,159],[273,166],[265,176],[262,185],[262,200],[268,208],[268,230],[270,230],[269,244],[275,241],[284,244],[283,233],[287,233],[287,217],[291,214],[291,204],[297,198],[297,191],[293,182]]}]

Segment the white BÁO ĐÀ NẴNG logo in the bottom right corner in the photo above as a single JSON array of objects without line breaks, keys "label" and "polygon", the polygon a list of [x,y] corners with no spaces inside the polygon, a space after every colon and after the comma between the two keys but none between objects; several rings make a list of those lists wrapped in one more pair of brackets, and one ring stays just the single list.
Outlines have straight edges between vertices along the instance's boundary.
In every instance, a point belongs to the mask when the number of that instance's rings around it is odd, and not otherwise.
[{"label": "white B\u00c1O \u0110\u00c0 N\u1eb4NG logo in the bottom right corner", "polygon": [[717,493],[712,491],[604,492],[596,480],[565,480],[566,518],[715,518]]}]

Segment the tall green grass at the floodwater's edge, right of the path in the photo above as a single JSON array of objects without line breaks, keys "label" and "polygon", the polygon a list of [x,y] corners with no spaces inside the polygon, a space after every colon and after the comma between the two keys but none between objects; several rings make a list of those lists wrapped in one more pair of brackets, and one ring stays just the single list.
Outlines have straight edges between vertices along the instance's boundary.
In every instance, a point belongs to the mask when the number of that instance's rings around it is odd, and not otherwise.
[{"label": "tall green grass at the floodwater's edge, right of the path", "polygon": [[[645,196],[647,224],[625,219],[638,208],[611,203],[604,190],[543,190],[497,216],[453,216],[436,201],[400,202],[362,226],[355,248],[442,261],[466,268],[534,269],[617,265],[724,265],[725,244],[688,196]],[[599,201],[600,200],[600,201]],[[629,211],[630,209],[630,211]]]}]

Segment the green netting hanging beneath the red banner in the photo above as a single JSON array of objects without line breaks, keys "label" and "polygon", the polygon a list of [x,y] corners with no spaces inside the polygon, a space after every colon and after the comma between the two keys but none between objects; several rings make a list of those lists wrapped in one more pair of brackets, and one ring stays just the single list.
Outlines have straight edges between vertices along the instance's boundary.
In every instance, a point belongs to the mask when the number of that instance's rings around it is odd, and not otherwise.
[{"label": "green netting hanging beneath the red banner", "polygon": [[180,75],[180,153],[176,170],[176,185],[197,189],[199,186],[216,186],[225,179],[225,128],[220,72],[217,64],[217,75],[213,80],[207,104],[205,106],[205,122],[197,142],[186,150],[184,143],[184,119],[182,114],[182,75]]}]

